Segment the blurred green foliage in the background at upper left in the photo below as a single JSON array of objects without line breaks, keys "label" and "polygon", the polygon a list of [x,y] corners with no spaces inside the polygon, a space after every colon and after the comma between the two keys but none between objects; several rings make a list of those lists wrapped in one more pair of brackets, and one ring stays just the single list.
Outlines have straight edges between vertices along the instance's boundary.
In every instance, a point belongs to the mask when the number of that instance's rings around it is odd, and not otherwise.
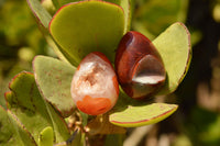
[{"label": "blurred green foliage in the background at upper left", "polygon": [[31,71],[37,54],[53,54],[40,32],[25,0],[0,3],[0,102],[11,78],[22,70]]}]

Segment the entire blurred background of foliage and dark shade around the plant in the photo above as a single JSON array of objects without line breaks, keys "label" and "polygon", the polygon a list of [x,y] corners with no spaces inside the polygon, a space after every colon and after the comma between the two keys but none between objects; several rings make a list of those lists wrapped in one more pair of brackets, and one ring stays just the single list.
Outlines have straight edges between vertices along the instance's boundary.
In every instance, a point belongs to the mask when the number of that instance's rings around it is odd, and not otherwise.
[{"label": "entire blurred background of foliage and dark shade around the plant", "polygon": [[[109,0],[112,1],[112,0]],[[132,30],[153,40],[176,21],[191,32],[193,60],[177,91],[158,98],[179,104],[167,120],[131,128],[124,142],[138,146],[220,145],[220,0],[133,0]],[[53,12],[52,12],[53,13]],[[25,0],[0,0],[0,104],[8,83],[20,71],[32,71],[35,55],[54,56]],[[144,133],[136,138],[136,131]],[[131,143],[129,143],[132,146]]]}]

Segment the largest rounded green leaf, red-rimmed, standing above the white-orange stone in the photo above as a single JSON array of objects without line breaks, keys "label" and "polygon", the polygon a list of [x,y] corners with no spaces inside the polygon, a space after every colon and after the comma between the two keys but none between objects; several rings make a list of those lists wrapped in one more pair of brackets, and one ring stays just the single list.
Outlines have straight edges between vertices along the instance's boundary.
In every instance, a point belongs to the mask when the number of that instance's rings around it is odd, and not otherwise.
[{"label": "largest rounded green leaf, red-rimmed, standing above the white-orange stone", "polygon": [[124,32],[122,8],[103,1],[82,1],[62,7],[50,32],[69,63],[78,65],[90,52],[102,52],[113,61]]}]

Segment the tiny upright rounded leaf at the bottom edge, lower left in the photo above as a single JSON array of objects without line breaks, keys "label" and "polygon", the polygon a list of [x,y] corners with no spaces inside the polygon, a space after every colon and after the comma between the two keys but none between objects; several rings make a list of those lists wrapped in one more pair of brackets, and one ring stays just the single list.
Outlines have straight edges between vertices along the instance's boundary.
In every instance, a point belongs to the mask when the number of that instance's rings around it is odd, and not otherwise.
[{"label": "tiny upright rounded leaf at the bottom edge, lower left", "polygon": [[51,126],[45,127],[38,136],[40,146],[53,146],[54,131]]}]

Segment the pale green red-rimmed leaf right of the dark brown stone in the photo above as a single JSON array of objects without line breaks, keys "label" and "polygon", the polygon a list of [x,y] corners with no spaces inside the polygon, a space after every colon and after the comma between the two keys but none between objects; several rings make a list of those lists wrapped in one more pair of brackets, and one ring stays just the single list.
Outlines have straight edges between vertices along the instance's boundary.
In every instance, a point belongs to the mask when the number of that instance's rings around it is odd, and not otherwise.
[{"label": "pale green red-rimmed leaf right of the dark brown stone", "polygon": [[174,92],[184,79],[191,59],[190,34],[183,23],[174,23],[153,44],[161,54],[167,79],[158,94]]}]

